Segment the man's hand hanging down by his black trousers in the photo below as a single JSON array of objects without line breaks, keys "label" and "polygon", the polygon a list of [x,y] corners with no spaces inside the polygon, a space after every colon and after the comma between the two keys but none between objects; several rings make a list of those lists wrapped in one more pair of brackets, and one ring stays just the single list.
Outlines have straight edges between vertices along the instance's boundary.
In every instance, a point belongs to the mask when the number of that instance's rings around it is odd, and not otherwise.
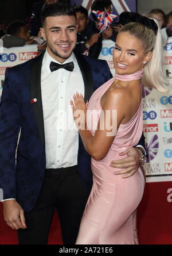
[{"label": "man's hand hanging down by his black trousers", "polygon": [[3,217],[7,225],[13,230],[25,229],[24,210],[15,200],[3,201]]}]

